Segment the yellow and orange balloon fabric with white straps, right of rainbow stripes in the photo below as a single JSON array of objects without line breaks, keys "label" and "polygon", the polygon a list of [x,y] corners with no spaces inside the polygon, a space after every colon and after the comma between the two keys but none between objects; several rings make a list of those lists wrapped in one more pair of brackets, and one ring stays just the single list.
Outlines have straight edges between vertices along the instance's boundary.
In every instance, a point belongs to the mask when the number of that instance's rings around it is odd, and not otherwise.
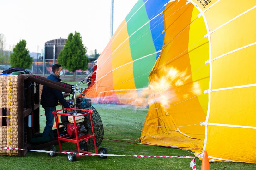
[{"label": "yellow and orange balloon fabric with white straps, right of rainbow stripes", "polygon": [[142,143],[256,163],[255,7],[255,0],[166,4]]}]

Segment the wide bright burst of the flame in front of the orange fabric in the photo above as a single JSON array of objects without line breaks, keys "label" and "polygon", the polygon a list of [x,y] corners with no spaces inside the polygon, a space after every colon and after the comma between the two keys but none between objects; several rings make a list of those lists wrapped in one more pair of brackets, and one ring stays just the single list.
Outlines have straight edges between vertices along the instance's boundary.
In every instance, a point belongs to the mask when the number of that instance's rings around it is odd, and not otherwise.
[{"label": "wide bright burst of the flame in front of the orange fabric", "polygon": [[[174,102],[182,101],[190,96],[190,94],[200,94],[201,89],[198,82],[192,83],[192,87],[187,89],[186,82],[191,78],[185,71],[179,71],[174,67],[166,67],[158,70],[153,76],[153,80],[149,81],[149,105],[159,103],[159,105],[167,112],[167,109]],[[184,88],[182,87],[184,86]]]}]

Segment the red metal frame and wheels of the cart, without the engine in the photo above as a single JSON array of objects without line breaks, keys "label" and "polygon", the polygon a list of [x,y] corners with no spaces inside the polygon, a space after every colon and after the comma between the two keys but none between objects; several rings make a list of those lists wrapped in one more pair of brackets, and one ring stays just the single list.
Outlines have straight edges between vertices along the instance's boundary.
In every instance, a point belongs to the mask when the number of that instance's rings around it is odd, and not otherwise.
[{"label": "red metal frame and wheels of the cart, without the engine", "polygon": [[[60,113],[60,111],[62,111]],[[79,114],[79,115],[73,115],[73,114],[67,114],[64,113],[64,111],[68,111],[70,112],[74,112],[74,111],[78,111],[78,112],[86,112],[83,114]],[[78,151],[79,153],[86,153],[86,154],[107,154],[107,150],[103,147],[101,147],[99,150],[97,150],[97,145],[96,145],[96,139],[95,139],[95,135],[94,135],[94,128],[93,128],[93,121],[92,121],[92,110],[84,110],[84,109],[76,109],[76,108],[65,108],[65,109],[61,109],[61,110],[56,110],[52,112],[54,114],[55,117],[55,123],[56,123],[56,127],[57,127],[57,134],[58,134],[58,142],[59,142],[59,148],[60,151],[64,151],[64,152],[72,152],[71,150],[62,150],[61,148],[61,141],[66,141],[66,142],[71,142],[71,143],[75,143],[76,144],[76,150],[74,151]],[[69,134],[65,134],[60,136],[59,134],[59,128],[60,125],[62,125],[63,123],[59,123],[59,116],[58,115],[64,115],[64,116],[72,116],[73,118],[73,122],[74,122],[74,131],[75,131],[75,136],[70,136]],[[79,130],[76,128],[78,127],[76,125],[76,117],[80,117],[80,116],[85,116],[85,115],[89,115],[90,116],[90,121],[91,121],[91,128],[92,128],[92,134],[85,134],[82,136],[78,136],[79,134]],[[95,148],[95,153],[92,152],[88,152],[87,150],[84,150],[83,148],[80,148],[79,146],[79,142],[80,141],[86,141],[88,142],[88,139],[92,138],[94,141],[94,148]],[[50,151],[55,151],[56,152],[56,148],[55,146],[50,146],[49,148]],[[49,153],[49,156],[57,156],[57,153]],[[67,154],[67,160],[68,161],[76,161],[76,156],[80,157],[80,156],[88,156],[88,155],[76,155],[76,154]],[[107,156],[99,156],[99,158],[102,159],[106,159]]]}]

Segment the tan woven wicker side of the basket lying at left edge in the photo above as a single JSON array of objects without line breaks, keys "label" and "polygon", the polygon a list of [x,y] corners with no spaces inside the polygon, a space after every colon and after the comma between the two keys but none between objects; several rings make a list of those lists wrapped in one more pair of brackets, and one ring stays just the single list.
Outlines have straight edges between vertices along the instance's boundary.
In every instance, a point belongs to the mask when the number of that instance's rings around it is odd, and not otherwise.
[{"label": "tan woven wicker side of the basket lying at left edge", "polygon": [[[10,115],[6,117],[7,126],[0,127],[0,146],[18,148],[18,76],[0,76],[0,109],[9,108]],[[0,156],[17,156],[17,150],[0,149]]]}]

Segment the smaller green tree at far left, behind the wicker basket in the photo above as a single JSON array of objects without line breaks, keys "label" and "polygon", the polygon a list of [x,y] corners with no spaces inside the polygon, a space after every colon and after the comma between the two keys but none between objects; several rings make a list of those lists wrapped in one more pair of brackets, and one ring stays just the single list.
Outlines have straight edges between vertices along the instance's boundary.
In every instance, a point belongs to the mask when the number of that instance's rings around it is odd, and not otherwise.
[{"label": "smaller green tree at far left, behind the wicker basket", "polygon": [[20,40],[19,43],[13,48],[13,53],[11,54],[11,67],[20,68],[31,68],[33,59],[28,54],[26,48],[26,41]]}]

